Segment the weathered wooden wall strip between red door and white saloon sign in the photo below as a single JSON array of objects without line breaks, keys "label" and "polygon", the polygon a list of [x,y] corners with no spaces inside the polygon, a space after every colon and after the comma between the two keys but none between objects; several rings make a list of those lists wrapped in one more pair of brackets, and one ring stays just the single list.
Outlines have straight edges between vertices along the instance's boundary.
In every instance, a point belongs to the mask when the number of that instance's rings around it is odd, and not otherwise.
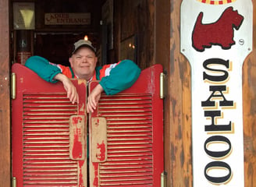
[{"label": "weathered wooden wall strip between red door and white saloon sign", "polygon": [[[169,92],[165,113],[167,186],[192,186],[190,64],[180,53],[180,5],[171,1]],[[169,104],[169,106],[168,106]]]}]

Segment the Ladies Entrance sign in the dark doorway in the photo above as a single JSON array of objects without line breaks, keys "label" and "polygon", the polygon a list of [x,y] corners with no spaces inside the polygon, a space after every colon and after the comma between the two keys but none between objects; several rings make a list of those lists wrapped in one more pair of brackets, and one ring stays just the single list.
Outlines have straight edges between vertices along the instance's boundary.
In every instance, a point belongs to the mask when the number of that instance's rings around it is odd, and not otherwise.
[{"label": "Ladies Entrance sign in the dark doorway", "polygon": [[45,13],[45,25],[90,25],[91,13]]}]

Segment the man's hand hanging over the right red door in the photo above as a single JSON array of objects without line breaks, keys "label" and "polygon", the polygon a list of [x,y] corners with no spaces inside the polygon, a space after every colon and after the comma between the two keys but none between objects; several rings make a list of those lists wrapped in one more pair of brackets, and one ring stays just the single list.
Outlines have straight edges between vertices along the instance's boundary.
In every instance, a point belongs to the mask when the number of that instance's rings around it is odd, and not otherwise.
[{"label": "man's hand hanging over the right red door", "polygon": [[101,92],[103,88],[100,84],[94,87],[94,90],[91,91],[91,94],[87,97],[87,113],[94,112],[97,108],[98,101],[101,98]]}]

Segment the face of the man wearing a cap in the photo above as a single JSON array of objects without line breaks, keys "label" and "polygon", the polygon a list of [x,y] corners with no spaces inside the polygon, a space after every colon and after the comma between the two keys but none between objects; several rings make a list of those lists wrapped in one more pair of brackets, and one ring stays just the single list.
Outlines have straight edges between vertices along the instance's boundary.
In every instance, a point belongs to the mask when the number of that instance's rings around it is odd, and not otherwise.
[{"label": "face of the man wearing a cap", "polygon": [[87,81],[94,75],[97,60],[94,51],[84,47],[79,48],[76,53],[69,58],[70,65],[76,76],[80,79],[86,79]]}]

